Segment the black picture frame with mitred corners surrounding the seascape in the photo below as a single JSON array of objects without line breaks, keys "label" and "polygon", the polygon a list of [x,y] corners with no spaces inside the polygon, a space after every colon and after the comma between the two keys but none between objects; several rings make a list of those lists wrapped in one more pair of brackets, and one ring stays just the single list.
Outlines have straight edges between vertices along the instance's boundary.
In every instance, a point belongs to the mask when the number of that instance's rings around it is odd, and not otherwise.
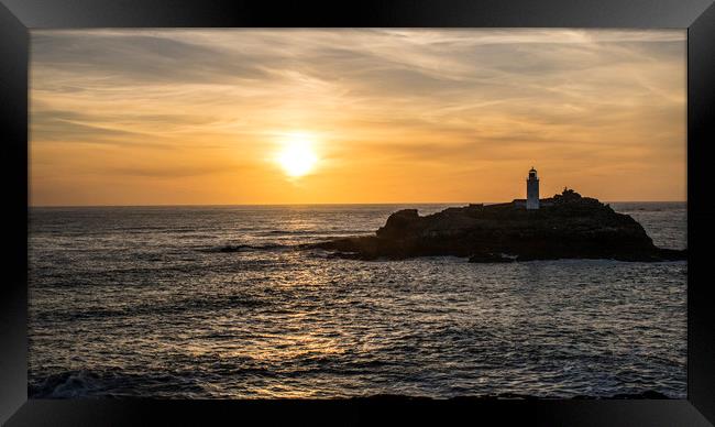
[{"label": "black picture frame with mitred corners surrounding the seascape", "polygon": [[[28,399],[29,29],[230,26],[462,26],[688,29],[688,398],[147,401]],[[708,191],[715,142],[712,0],[0,0],[0,135],[4,254],[0,285],[0,423],[210,425],[219,419],[299,424],[498,419],[504,424],[706,426],[715,423],[715,298]]]}]

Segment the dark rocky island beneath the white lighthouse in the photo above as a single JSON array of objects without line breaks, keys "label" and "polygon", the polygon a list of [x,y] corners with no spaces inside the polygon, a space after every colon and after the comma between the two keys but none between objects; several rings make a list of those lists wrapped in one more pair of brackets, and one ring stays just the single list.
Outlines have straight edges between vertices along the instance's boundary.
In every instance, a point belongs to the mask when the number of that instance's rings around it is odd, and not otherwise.
[{"label": "dark rocky island beneath the white lighthouse", "polygon": [[556,259],[685,260],[686,250],[662,249],[630,216],[565,189],[529,210],[522,200],[469,205],[420,217],[396,211],[374,236],[311,244],[339,258],[404,260],[453,255],[470,262]]}]

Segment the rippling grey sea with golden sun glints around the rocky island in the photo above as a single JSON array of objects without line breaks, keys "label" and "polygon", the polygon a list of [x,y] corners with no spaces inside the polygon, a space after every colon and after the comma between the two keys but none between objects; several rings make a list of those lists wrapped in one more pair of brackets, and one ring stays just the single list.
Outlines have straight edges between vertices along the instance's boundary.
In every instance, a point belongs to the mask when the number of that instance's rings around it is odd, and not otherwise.
[{"label": "rippling grey sea with golden sun glints around the rocky island", "polygon": [[[684,204],[612,206],[686,247]],[[31,209],[30,396],[685,397],[686,262],[290,248],[403,207]]]}]

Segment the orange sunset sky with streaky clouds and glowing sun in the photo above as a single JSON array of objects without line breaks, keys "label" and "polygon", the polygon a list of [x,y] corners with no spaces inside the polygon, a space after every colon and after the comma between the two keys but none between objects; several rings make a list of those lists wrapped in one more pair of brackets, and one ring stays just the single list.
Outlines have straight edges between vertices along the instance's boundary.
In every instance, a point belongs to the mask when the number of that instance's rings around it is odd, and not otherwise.
[{"label": "orange sunset sky with streaky clouds and glowing sun", "polygon": [[31,34],[33,206],[685,200],[684,30]]}]

